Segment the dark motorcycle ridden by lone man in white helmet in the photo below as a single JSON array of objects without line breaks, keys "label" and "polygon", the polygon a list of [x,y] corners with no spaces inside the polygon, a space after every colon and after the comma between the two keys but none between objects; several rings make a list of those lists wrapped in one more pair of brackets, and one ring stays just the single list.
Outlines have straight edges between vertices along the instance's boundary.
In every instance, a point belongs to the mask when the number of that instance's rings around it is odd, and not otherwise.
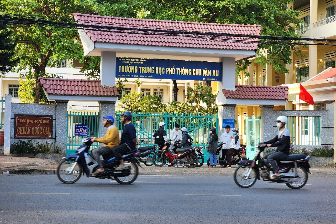
[{"label": "dark motorcycle ridden by lone man in white helmet", "polygon": [[[280,176],[277,179],[270,179],[273,175],[273,168],[266,159],[260,156],[266,144],[259,143],[256,147],[253,160],[241,160],[240,165],[235,170],[234,180],[239,187],[251,187],[260,180],[271,183],[285,183],[289,188],[300,189],[308,181],[309,155],[292,154],[284,159],[278,160]],[[260,171],[259,171],[260,170]]]}]

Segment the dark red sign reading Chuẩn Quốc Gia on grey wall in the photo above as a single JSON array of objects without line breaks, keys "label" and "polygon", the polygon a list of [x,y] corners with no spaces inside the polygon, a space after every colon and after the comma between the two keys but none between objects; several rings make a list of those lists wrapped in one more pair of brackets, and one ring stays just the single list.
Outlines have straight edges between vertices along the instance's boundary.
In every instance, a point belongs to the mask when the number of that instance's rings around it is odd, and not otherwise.
[{"label": "dark red sign reading Chu\u1ea9n Qu\u1ed1c Gia on grey wall", "polygon": [[15,115],[15,138],[52,138],[52,116]]}]

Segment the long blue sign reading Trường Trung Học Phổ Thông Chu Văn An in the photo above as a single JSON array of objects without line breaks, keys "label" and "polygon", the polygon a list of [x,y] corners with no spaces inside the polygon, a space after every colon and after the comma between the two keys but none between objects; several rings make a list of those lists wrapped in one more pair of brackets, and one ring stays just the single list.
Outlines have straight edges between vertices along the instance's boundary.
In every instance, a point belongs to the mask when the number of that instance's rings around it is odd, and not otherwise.
[{"label": "long blue sign reading Tr\u01b0\u1eddng Trung H\u1ecdc Ph\u1ed5 Th\u00f4ng Chu V\u0103n An", "polygon": [[117,58],[116,77],[221,81],[222,63]]}]

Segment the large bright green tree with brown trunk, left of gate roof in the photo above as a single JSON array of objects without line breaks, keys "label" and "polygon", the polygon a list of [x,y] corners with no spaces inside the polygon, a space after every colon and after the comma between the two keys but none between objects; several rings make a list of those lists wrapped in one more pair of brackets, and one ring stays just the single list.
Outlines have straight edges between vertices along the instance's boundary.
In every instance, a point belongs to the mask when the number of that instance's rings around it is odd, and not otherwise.
[{"label": "large bright green tree with brown trunk, left of gate roof", "polygon": [[[87,13],[109,16],[131,16],[133,2],[99,0],[0,0],[2,10],[25,17],[35,17],[61,22],[73,22],[73,13]],[[111,3],[110,3],[111,2]],[[20,57],[17,72],[29,67],[28,73],[20,74],[28,80],[34,80],[34,103],[39,103],[44,95],[38,82],[39,77],[46,77],[46,66],[55,67],[59,60],[80,60],[83,49],[78,41],[76,29],[58,28],[40,24],[12,25],[14,41],[18,43],[16,55]]]}]

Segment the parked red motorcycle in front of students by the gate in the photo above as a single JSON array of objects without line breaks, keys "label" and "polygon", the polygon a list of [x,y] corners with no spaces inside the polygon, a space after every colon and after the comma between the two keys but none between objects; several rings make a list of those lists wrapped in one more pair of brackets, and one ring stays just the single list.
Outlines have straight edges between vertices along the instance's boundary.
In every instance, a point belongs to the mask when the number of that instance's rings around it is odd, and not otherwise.
[{"label": "parked red motorcycle in front of students by the gate", "polygon": [[198,158],[195,150],[198,147],[188,147],[183,149],[177,148],[177,154],[175,154],[171,149],[169,149],[170,145],[171,141],[166,141],[162,150],[159,150],[154,154],[152,158],[154,165],[163,166],[165,163],[167,163],[168,166],[184,164],[186,167],[196,167],[198,164]]}]

